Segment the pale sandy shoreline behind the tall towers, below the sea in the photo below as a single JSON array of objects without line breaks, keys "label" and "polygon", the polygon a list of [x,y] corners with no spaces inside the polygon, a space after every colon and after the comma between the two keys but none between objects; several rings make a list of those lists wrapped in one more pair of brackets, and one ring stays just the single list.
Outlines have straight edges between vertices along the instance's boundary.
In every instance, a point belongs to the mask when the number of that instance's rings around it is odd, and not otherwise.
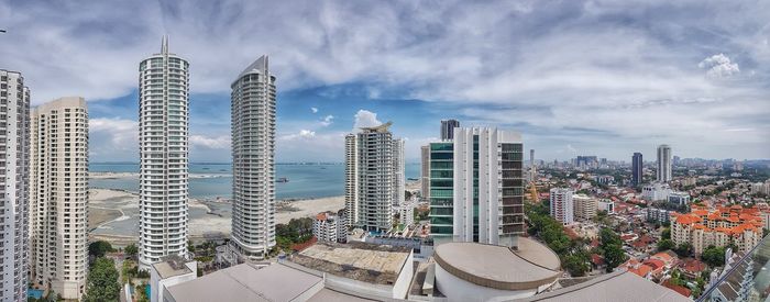
[{"label": "pale sandy shoreline behind the tall towers, below the sea", "polygon": [[[277,201],[276,223],[288,223],[292,219],[311,217],[323,211],[338,211],[344,208],[344,197],[330,197],[305,200]],[[200,210],[206,214],[190,219],[190,238],[227,237],[230,234],[230,203],[210,200],[189,199],[190,211]],[[117,243],[136,241],[124,231],[116,231],[121,221],[134,219],[139,209],[139,195],[116,189],[89,190],[89,228],[98,231],[90,236],[95,239],[109,239]]]}]

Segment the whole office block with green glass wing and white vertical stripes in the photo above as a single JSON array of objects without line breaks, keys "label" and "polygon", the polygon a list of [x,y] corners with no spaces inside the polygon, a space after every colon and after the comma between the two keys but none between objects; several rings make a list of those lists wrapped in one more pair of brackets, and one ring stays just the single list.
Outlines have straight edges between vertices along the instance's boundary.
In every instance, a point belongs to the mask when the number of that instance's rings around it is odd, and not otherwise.
[{"label": "whole office block with green glass wing and white vertical stripes", "polygon": [[430,144],[430,223],[437,244],[517,246],[524,233],[524,146],[517,132],[457,128]]}]

